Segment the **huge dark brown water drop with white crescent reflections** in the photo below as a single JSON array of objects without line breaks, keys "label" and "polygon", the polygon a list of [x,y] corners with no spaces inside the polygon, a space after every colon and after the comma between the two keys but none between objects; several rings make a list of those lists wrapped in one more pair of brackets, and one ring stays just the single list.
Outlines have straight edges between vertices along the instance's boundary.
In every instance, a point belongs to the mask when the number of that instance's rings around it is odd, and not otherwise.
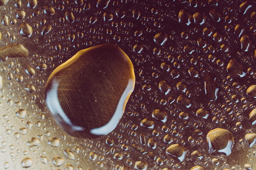
[{"label": "huge dark brown water drop with white crescent reflections", "polygon": [[70,135],[107,135],[121,119],[135,86],[132,62],[119,47],[101,44],[81,50],[47,80],[45,100]]}]

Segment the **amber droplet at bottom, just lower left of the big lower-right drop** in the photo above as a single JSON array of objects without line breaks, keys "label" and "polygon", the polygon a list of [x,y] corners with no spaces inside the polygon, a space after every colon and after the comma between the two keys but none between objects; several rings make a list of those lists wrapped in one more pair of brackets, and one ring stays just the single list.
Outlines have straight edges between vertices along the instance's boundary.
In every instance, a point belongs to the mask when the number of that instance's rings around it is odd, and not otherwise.
[{"label": "amber droplet at bottom, just lower left of the big lower-right drop", "polygon": [[166,148],[166,154],[173,159],[182,162],[185,159],[187,149],[181,144],[173,144]]}]

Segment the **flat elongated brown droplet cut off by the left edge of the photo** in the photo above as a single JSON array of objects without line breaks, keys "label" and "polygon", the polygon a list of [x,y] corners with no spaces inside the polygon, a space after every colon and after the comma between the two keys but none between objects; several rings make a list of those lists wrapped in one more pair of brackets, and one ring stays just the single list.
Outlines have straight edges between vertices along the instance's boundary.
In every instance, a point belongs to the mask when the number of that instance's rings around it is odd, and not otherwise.
[{"label": "flat elongated brown droplet cut off by the left edge of the photo", "polygon": [[5,62],[8,57],[27,57],[29,51],[22,44],[10,44],[0,48],[0,61]]}]

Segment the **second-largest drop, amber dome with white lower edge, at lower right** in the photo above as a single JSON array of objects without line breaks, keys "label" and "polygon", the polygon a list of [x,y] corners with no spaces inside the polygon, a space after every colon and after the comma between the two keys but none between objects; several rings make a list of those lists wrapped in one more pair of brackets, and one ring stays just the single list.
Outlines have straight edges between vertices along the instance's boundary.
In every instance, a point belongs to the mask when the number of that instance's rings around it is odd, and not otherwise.
[{"label": "second-largest drop, amber dome with white lower edge, at lower right", "polygon": [[209,153],[212,155],[230,155],[234,146],[234,136],[229,130],[216,128],[207,134]]}]

